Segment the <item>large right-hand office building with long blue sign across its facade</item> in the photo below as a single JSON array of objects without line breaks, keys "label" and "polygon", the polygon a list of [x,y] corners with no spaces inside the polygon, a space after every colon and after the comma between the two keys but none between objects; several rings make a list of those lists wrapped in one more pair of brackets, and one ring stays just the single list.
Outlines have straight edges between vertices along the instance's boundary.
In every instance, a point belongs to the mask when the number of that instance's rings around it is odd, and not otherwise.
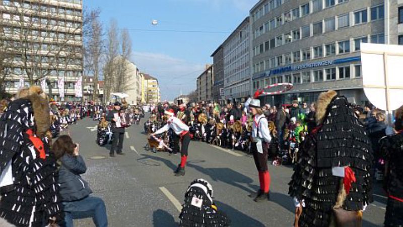
[{"label": "large right-hand office building with long blue sign across its facade", "polygon": [[261,0],[251,10],[252,92],[292,83],[263,96],[279,104],[314,101],[328,89],[364,104],[360,43],[403,43],[400,0]]}]

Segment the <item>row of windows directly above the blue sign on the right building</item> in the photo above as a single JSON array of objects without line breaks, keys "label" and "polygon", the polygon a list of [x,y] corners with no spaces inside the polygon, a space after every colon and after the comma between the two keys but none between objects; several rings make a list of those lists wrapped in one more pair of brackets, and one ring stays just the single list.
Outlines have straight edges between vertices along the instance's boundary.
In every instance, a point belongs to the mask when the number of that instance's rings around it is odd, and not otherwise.
[{"label": "row of windows directly above the blue sign on the right building", "polygon": [[327,43],[323,45],[309,47],[306,49],[300,49],[294,52],[285,53],[279,56],[275,56],[270,60],[261,61],[254,64],[252,72],[258,73],[279,66],[290,65],[292,63],[359,51],[361,47],[361,42],[368,42],[368,39],[370,39],[370,42],[372,43],[384,43],[384,34],[380,33],[370,36],[356,37],[349,40]]}]

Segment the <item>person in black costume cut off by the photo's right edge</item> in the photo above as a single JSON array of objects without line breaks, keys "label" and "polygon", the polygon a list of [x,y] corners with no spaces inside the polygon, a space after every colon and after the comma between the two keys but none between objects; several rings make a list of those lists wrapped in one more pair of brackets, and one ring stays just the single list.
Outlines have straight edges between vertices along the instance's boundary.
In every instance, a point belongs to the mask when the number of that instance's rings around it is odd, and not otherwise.
[{"label": "person in black costume cut off by the photo's right edge", "polygon": [[396,135],[382,139],[381,156],[387,169],[384,188],[388,194],[385,226],[403,226],[403,106],[395,112]]}]

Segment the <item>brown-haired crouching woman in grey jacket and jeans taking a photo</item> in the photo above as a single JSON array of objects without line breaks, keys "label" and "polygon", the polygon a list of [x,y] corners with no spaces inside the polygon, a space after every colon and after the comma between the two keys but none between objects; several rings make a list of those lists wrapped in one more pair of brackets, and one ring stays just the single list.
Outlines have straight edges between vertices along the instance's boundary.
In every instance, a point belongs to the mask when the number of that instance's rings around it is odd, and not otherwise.
[{"label": "brown-haired crouching woman in grey jacket and jeans taking a photo", "polygon": [[66,227],[73,227],[73,219],[92,217],[97,227],[108,226],[105,203],[92,193],[80,174],[87,171],[79,145],[68,135],[60,136],[52,146],[58,159],[60,196],[64,208]]}]

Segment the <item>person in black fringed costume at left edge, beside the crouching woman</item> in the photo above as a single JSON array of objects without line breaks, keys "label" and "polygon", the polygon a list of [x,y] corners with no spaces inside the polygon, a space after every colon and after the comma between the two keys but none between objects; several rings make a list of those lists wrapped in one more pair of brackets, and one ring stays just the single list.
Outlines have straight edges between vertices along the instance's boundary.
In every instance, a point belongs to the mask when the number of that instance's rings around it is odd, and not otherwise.
[{"label": "person in black fringed costume at left edge, beside the crouching woman", "polygon": [[63,219],[49,125],[47,96],[38,86],[20,90],[0,118],[0,217],[14,225]]}]

